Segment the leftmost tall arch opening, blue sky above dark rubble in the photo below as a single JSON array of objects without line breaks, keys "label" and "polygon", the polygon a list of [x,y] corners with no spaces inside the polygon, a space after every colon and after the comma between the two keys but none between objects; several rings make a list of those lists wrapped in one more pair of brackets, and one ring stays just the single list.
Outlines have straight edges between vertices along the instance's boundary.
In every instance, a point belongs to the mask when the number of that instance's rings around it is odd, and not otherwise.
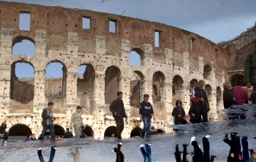
[{"label": "leftmost tall arch opening, blue sky above dark rubble", "polygon": [[31,63],[17,61],[11,65],[10,99],[27,104],[34,99],[34,68]]}]

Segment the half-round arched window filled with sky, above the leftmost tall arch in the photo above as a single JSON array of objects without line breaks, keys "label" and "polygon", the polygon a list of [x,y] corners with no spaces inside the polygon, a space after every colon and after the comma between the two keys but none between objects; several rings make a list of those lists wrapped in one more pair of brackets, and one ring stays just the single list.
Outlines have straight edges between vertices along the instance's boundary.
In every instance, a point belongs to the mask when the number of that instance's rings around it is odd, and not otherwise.
[{"label": "half-round arched window filled with sky, above the leftmost tall arch", "polygon": [[12,54],[34,56],[36,54],[34,40],[29,37],[16,37],[12,42]]}]

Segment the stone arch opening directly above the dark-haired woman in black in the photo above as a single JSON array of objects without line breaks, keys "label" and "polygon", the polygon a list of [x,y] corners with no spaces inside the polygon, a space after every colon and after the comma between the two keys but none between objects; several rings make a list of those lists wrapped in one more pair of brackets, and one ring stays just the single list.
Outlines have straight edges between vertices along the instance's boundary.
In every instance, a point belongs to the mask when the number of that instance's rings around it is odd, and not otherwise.
[{"label": "stone arch opening directly above the dark-haired woman in black", "polygon": [[[172,78],[172,106],[176,106],[176,101],[182,101],[182,88],[184,81],[181,76],[176,75]],[[183,101],[182,101],[183,102]]]}]

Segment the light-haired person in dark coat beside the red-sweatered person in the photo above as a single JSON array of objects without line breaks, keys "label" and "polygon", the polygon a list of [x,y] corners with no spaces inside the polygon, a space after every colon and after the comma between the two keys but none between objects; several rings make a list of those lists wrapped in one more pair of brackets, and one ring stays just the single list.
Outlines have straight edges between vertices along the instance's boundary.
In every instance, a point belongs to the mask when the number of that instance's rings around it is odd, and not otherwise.
[{"label": "light-haired person in dark coat beside the red-sweatered person", "polygon": [[224,108],[230,108],[233,104],[235,104],[234,101],[234,94],[232,92],[231,88],[231,83],[230,82],[225,82],[223,83],[223,104]]}]

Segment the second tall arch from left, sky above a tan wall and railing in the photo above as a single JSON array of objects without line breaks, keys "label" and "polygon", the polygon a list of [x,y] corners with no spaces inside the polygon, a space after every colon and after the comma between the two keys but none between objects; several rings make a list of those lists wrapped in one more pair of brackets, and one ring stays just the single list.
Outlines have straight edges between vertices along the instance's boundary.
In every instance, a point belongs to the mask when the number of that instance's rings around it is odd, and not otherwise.
[{"label": "second tall arch from left, sky above a tan wall and railing", "polygon": [[52,61],[46,67],[46,96],[66,96],[66,66],[60,61]]}]

